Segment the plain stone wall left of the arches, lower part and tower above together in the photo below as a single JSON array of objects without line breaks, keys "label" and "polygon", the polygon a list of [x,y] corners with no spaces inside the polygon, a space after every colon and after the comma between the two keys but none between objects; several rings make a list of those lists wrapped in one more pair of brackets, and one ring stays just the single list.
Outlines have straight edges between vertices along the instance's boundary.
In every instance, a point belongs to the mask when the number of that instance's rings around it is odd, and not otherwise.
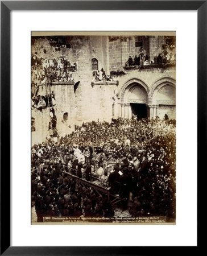
[{"label": "plain stone wall left of the arches, lower part and tower above together", "polygon": [[[71,48],[61,48],[56,51],[51,47],[47,39],[35,40],[32,53],[41,57],[60,57],[65,55],[71,62],[77,63],[77,72],[73,72],[74,84],[69,82],[53,82],[51,91],[56,98],[55,113],[57,116],[57,131],[60,136],[71,133],[74,125],[93,120],[110,122],[112,118],[112,105],[114,105],[114,117],[117,118],[117,83],[94,83],[92,76],[92,58],[99,61],[100,69],[106,71],[107,47],[106,36],[73,36],[70,39]],[[46,53],[44,52],[46,49]],[[45,85],[39,87],[39,95],[46,95]],[[63,121],[63,114],[68,113],[68,121]],[[49,110],[35,112],[32,110],[32,118],[35,118],[36,130],[32,132],[32,144],[45,141],[49,137]]]}]

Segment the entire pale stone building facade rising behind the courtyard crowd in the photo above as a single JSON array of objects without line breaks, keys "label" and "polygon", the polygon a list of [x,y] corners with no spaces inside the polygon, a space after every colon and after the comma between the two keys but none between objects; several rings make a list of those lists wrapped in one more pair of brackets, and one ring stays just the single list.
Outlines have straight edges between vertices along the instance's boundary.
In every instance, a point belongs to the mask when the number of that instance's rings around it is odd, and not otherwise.
[{"label": "entire pale stone building facade rising behind the courtyard crowd", "polygon": [[[175,64],[127,67],[126,61],[140,52],[153,60],[163,53],[163,45],[175,45],[175,36],[67,36],[70,48],[51,46],[48,38],[33,38],[32,53],[53,59],[67,56],[76,63],[74,82],[53,82],[57,131],[69,134],[82,122],[107,121],[118,117],[176,118]],[[167,42],[168,40],[168,42]],[[174,51],[174,49],[172,50]],[[113,76],[114,81],[94,81],[92,66]],[[39,86],[39,95],[46,95],[46,86]],[[32,109],[32,144],[49,137],[49,110]]]}]

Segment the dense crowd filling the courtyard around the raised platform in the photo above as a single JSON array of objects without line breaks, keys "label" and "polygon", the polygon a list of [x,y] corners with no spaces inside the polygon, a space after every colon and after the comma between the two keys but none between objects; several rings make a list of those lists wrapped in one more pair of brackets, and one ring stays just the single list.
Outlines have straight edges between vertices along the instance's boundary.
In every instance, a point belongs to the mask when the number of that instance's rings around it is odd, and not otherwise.
[{"label": "dense crowd filling the courtyard around the raised platform", "polygon": [[[43,216],[114,216],[110,188],[131,216],[175,218],[175,120],[88,122],[59,142],[32,146],[32,201]],[[76,181],[74,177],[80,178]]]}]

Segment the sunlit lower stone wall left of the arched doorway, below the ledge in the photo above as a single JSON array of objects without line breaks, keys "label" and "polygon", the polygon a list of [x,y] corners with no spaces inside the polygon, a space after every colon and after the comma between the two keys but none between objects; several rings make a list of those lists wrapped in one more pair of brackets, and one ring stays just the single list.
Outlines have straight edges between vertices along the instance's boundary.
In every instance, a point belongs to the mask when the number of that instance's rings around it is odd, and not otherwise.
[{"label": "sunlit lower stone wall left of the arched doorway, below the ledge", "polygon": [[[79,86],[79,85],[78,85]],[[77,89],[74,93],[73,84],[55,83],[51,86],[55,94],[55,114],[57,117],[57,131],[61,136],[69,134],[74,130],[74,125],[82,122],[107,121],[118,117],[117,109],[117,83],[91,84],[88,88]],[[46,94],[45,85],[40,86],[39,95]],[[112,105],[114,104],[114,116]],[[63,120],[64,113],[68,113],[68,120]],[[35,131],[32,132],[32,144],[41,143],[49,137],[49,109],[32,109],[32,118],[35,118]]]}]

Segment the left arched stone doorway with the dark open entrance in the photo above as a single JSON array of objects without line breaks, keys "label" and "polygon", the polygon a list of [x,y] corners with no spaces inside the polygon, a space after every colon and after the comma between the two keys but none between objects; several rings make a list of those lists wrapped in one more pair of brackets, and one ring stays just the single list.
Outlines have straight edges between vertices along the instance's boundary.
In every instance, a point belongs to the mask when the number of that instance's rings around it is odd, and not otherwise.
[{"label": "left arched stone doorway with the dark open entrance", "polygon": [[147,86],[137,81],[132,81],[123,86],[121,93],[121,106],[119,116],[131,118],[133,114],[137,118],[149,117]]}]

